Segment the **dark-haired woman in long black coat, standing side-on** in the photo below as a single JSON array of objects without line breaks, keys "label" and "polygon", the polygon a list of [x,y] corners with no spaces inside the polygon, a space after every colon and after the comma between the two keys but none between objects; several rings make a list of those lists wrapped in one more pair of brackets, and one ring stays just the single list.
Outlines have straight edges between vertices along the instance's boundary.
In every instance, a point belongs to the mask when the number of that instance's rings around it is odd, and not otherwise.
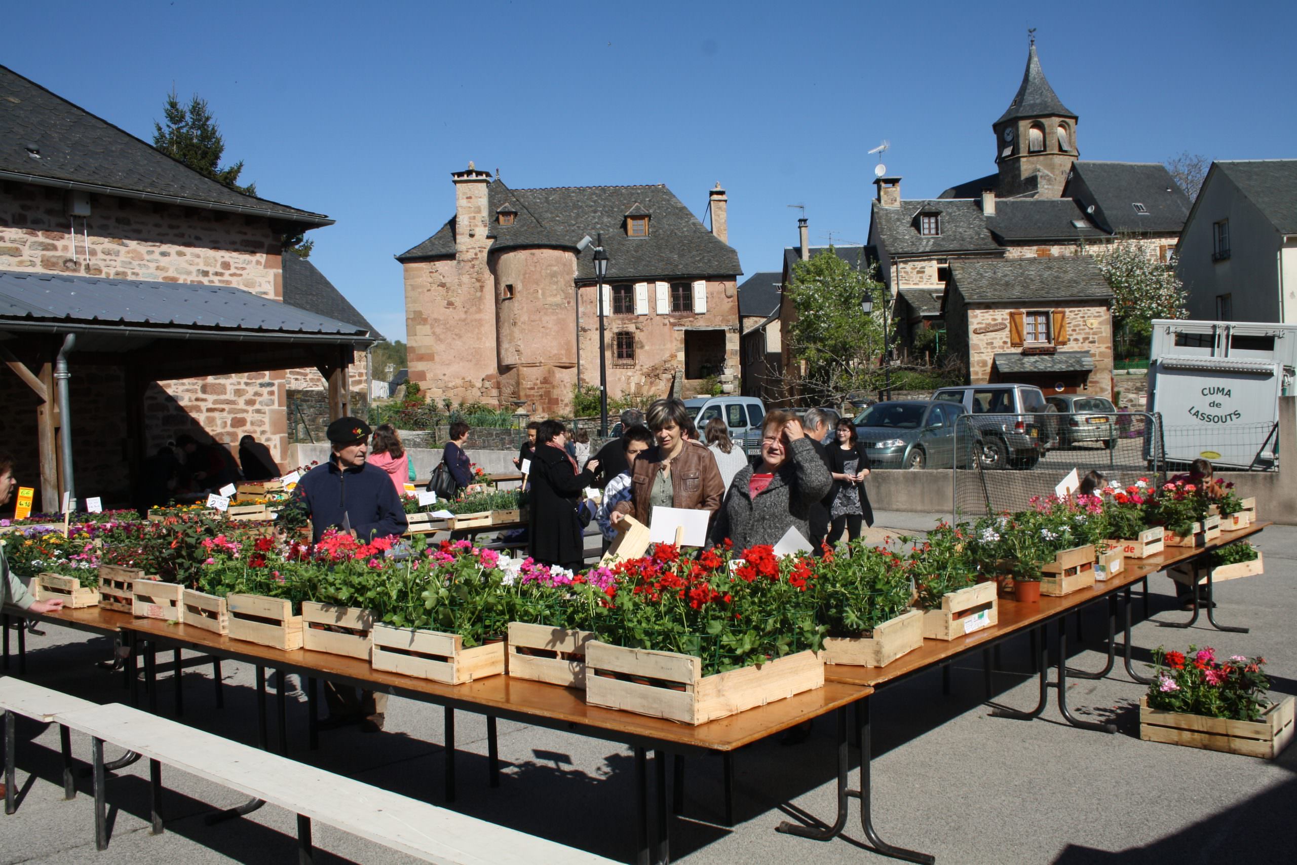
[{"label": "dark-haired woman in long black coat, standing side-on", "polygon": [[585,565],[585,538],[581,520],[581,493],[594,484],[599,460],[591,459],[585,471],[567,453],[567,432],[558,420],[546,420],[536,432],[532,456],[532,521],[529,552],[538,564],[559,565],[576,572]]}]

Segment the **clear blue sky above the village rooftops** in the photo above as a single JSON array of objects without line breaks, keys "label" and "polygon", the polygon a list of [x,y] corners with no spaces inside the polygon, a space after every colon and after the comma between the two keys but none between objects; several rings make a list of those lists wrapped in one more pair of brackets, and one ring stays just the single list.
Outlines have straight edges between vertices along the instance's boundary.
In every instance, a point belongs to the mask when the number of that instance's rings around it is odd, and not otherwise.
[{"label": "clear blue sky above the village rooftops", "polygon": [[743,270],[863,243],[877,157],[905,197],[994,170],[1027,27],[1082,158],[1297,156],[1297,4],[8,4],[0,62],[145,140],[204,96],[271,200],[337,219],[316,263],[405,335],[393,255],[451,215],[473,160],[512,187],[717,180]]}]

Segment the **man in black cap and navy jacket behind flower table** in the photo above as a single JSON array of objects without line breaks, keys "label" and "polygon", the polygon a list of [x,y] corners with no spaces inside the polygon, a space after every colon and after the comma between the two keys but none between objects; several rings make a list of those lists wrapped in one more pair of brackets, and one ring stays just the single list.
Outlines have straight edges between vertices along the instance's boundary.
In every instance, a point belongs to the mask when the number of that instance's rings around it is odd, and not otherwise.
[{"label": "man in black cap and navy jacket behind flower table", "polygon": [[[405,508],[388,473],[364,462],[368,455],[370,425],[359,418],[339,418],[326,432],[332,455],[323,466],[316,466],[302,476],[294,493],[305,502],[314,528],[314,541],[326,529],[350,532],[361,541],[405,534],[407,528]],[[320,729],[333,729],[359,724],[366,733],[383,729],[388,705],[387,694],[324,683],[328,718]]]}]

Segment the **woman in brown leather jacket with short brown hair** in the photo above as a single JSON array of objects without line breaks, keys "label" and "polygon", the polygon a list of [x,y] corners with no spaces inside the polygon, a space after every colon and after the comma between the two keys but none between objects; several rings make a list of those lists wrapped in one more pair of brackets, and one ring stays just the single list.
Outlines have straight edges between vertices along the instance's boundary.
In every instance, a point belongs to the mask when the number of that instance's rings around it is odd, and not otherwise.
[{"label": "woman in brown leather jacket with short brown hair", "polygon": [[655,506],[716,514],[725,484],[712,451],[681,434],[690,421],[685,403],[659,399],[648,406],[646,420],[658,444],[636,460],[630,501],[616,506],[611,521],[620,521],[617,514],[629,514],[648,525]]}]

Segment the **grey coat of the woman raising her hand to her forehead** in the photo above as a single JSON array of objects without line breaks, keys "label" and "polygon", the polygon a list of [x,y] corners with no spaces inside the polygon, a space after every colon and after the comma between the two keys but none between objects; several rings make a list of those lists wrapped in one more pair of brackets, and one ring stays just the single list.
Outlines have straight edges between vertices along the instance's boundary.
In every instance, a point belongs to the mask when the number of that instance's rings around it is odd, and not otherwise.
[{"label": "grey coat of the woman raising her hand to her forehead", "polygon": [[811,440],[798,438],[792,442],[790,459],[785,460],[770,485],[756,498],[748,490],[752,472],[748,466],[734,476],[712,524],[712,542],[721,543],[729,538],[734,542],[735,551],[760,543],[773,546],[790,527],[809,541],[811,511],[833,486],[833,477],[811,446]]}]

